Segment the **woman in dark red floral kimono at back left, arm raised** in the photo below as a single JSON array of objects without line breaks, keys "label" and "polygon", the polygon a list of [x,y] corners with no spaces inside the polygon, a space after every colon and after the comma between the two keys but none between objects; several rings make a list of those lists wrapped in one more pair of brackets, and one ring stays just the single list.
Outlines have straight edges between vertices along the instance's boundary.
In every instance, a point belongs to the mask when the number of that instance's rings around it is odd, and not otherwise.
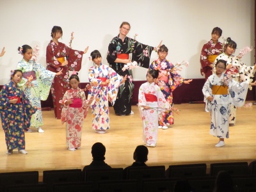
[{"label": "woman in dark red floral kimono at back left, arm raised", "polygon": [[63,32],[61,27],[54,26],[51,32],[52,40],[47,45],[46,49],[47,70],[51,70],[52,72],[59,72],[61,69],[63,70],[61,76],[54,78],[51,86],[54,113],[55,117],[58,119],[61,118],[62,106],[60,100],[64,93],[69,89],[68,70],[79,71],[81,69],[83,54],[88,51],[88,47],[86,47],[84,51],[71,49],[72,36],[70,40],[70,47],[58,42],[62,35]]}]

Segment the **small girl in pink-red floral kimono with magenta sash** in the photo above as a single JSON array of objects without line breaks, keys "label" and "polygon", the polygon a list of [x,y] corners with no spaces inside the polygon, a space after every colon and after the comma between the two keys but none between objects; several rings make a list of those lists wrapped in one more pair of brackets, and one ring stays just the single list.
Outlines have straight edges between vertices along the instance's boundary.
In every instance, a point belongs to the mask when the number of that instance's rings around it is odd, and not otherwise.
[{"label": "small girl in pink-red floral kimono with magenta sash", "polygon": [[84,90],[78,87],[79,77],[73,74],[69,78],[71,89],[63,96],[61,111],[61,123],[66,122],[66,141],[68,150],[75,151],[81,147],[81,136],[84,118],[92,99],[86,100]]}]

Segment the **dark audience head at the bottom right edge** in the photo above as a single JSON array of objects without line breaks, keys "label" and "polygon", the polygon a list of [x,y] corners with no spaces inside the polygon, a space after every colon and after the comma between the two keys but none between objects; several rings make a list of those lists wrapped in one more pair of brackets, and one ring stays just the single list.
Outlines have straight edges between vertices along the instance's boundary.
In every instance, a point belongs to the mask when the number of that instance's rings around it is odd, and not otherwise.
[{"label": "dark audience head at the bottom right edge", "polygon": [[218,173],[214,192],[235,192],[234,183],[231,175],[226,171],[221,171]]}]

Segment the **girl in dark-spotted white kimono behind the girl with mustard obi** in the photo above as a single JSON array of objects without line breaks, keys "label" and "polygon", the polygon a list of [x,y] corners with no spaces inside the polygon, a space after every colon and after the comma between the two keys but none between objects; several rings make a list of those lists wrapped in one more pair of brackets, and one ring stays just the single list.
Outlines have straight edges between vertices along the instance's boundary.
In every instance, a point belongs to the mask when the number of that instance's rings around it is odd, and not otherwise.
[{"label": "girl in dark-spotted white kimono behind the girl with mustard obi", "polygon": [[[234,52],[236,51],[237,44],[230,37],[223,43],[224,52],[220,54],[215,63],[218,60],[227,61],[227,71],[226,74],[232,76],[234,81],[243,82],[243,81],[252,81],[252,77],[254,76],[256,64],[254,66],[246,66],[240,59],[243,56],[239,54],[238,56],[234,56]],[[251,80],[250,80],[251,79]],[[252,84],[254,85],[254,84]],[[250,90],[252,90],[252,86],[249,86]],[[230,108],[230,118],[229,124],[230,126],[234,126],[236,124],[236,106],[232,105]]]}]

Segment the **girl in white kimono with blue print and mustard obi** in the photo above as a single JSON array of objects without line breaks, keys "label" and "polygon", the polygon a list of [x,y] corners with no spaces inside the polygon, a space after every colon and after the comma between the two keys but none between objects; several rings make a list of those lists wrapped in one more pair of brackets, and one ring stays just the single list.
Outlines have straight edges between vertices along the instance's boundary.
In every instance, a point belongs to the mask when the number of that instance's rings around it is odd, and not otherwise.
[{"label": "girl in white kimono with blue print and mustard obi", "polygon": [[228,77],[225,74],[226,67],[227,61],[218,60],[216,73],[208,77],[202,90],[205,111],[211,112],[210,134],[219,138],[215,147],[224,146],[224,138],[229,138],[230,104],[243,106],[249,86],[248,81],[238,83],[232,77]]}]

